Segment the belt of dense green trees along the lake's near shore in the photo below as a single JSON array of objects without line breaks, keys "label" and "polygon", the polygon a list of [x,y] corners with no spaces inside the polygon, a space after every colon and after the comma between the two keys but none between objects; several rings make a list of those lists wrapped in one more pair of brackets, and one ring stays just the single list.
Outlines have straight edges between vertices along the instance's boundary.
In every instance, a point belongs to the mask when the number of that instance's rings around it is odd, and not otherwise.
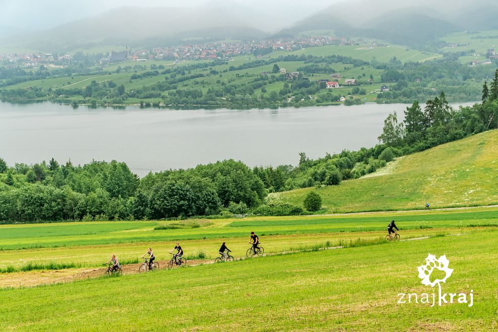
[{"label": "belt of dense green trees along the lake's near shore", "polygon": [[321,198],[311,193],[296,206],[267,197],[306,187],[337,186],[384,167],[395,157],[498,128],[498,70],[482,103],[453,109],[444,93],[427,101],[424,110],[414,102],[397,121],[384,121],[380,144],[358,151],[344,150],[315,160],[300,153],[297,167],[249,168],[224,160],[187,170],[149,173],[139,179],[124,162],[93,161],[73,165],[47,163],[9,167],[0,159],[0,222],[70,220],[175,219],[233,214],[301,215],[322,213]]}]

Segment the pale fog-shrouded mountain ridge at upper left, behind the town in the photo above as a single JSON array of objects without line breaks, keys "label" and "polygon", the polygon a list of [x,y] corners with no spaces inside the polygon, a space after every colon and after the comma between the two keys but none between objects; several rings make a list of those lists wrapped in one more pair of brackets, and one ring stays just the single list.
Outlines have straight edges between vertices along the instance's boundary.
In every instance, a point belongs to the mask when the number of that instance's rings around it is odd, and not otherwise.
[{"label": "pale fog-shrouded mountain ridge at upper left, behind the town", "polygon": [[123,7],[92,18],[17,37],[19,46],[53,51],[69,50],[92,43],[141,45],[144,40],[182,38],[261,38],[252,15],[243,7],[199,8]]}]

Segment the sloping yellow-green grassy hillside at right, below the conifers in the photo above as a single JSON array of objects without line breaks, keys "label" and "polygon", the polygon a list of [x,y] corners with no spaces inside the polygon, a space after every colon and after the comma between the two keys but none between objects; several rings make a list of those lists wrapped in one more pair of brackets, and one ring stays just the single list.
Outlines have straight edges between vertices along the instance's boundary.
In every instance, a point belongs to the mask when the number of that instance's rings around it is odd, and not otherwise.
[{"label": "sloping yellow-green grassy hillside at right, below the conifers", "polygon": [[387,174],[276,195],[301,205],[316,190],[330,212],[496,204],[497,156],[498,130],[492,130],[407,155],[389,164]]}]

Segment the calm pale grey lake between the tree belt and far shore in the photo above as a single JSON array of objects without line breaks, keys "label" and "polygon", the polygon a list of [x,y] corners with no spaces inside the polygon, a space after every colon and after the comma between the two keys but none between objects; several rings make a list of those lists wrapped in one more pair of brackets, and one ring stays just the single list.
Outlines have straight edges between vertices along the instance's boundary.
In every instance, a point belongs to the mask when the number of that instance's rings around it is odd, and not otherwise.
[{"label": "calm pale grey lake between the tree belt and far shore", "polygon": [[187,111],[0,103],[0,157],[9,165],[116,159],[140,176],[229,158],[251,167],[296,165],[302,151],[317,158],[374,146],[387,114],[397,111],[400,120],[406,106]]}]

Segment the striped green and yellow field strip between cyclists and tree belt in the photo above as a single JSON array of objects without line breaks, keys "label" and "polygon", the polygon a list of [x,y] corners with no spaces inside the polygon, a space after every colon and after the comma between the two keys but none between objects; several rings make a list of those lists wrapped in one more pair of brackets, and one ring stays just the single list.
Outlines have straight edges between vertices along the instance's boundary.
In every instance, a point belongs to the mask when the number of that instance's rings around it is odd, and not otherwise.
[{"label": "striped green and yellow field strip between cyclists and tree belt", "polygon": [[[73,263],[98,267],[111,254],[133,260],[152,246],[157,259],[169,259],[176,241],[186,255],[204,251],[208,259],[218,256],[226,241],[236,258],[244,257],[251,231],[256,231],[266,253],[279,253],[306,246],[349,244],[358,239],[385,236],[387,223],[395,219],[403,238],[460,233],[468,227],[498,225],[498,208],[467,210],[388,212],[373,214],[252,217],[216,219],[191,229],[158,229],[165,221],[96,221],[0,226],[0,270],[20,269],[27,263]],[[0,277],[0,279],[2,279]]]}]

